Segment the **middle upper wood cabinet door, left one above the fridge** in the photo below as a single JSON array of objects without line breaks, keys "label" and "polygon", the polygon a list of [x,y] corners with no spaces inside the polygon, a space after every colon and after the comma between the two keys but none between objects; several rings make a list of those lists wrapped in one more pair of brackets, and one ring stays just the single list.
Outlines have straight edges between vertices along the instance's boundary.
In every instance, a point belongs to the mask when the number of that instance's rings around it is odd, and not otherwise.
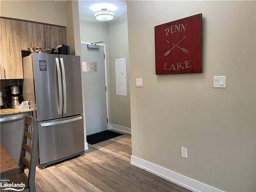
[{"label": "middle upper wood cabinet door, left one above the fridge", "polygon": [[28,50],[31,47],[45,47],[44,25],[19,22],[19,29],[22,50]]}]

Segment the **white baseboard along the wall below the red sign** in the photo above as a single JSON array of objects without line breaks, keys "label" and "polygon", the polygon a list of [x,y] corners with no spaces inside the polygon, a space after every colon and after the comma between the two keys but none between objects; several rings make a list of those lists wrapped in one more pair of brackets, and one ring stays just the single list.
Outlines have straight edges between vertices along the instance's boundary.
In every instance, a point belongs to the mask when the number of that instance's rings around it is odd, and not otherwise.
[{"label": "white baseboard along the wall below the red sign", "polygon": [[223,190],[201,183],[200,181],[178,174],[172,170],[166,169],[133,155],[131,156],[131,164],[192,191],[223,192]]}]

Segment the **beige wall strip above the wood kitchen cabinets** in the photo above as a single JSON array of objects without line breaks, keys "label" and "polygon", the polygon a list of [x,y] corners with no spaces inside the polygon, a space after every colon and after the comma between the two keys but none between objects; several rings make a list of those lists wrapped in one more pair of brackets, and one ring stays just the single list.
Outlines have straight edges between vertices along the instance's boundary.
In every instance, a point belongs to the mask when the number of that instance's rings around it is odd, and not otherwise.
[{"label": "beige wall strip above the wood kitchen cabinets", "polygon": [[66,26],[66,1],[0,1],[0,16]]}]

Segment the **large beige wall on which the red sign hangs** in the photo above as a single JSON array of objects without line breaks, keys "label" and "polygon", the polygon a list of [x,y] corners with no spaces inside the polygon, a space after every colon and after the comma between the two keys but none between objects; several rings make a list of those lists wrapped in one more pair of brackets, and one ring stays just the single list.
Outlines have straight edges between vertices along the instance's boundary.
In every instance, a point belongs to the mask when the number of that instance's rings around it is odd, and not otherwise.
[{"label": "large beige wall on which the red sign hangs", "polygon": [[[155,75],[154,27],[197,13],[203,73]],[[133,155],[223,190],[256,191],[255,2],[128,1],[127,15]],[[226,75],[225,89],[212,87],[214,75]]]}]

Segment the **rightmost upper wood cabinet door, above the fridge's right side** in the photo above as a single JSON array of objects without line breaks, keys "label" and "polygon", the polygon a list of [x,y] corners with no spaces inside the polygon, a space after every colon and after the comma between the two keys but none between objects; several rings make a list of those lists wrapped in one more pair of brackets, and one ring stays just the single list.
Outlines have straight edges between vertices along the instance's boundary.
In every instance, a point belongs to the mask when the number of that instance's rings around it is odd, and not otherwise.
[{"label": "rightmost upper wood cabinet door, above the fridge's right side", "polygon": [[[66,28],[44,25],[46,47],[56,48],[58,45],[66,44]],[[56,52],[57,50],[55,50]]]}]

